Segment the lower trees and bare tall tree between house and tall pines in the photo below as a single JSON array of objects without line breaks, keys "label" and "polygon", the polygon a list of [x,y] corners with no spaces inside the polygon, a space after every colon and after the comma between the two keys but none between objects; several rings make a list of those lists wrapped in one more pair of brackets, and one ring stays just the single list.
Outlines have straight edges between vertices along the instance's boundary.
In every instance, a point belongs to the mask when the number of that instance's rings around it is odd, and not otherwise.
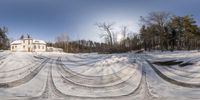
[{"label": "lower trees and bare tall tree between house and tall pines", "polygon": [[[134,33],[128,35],[126,26],[121,27],[119,32],[115,32],[113,23],[97,23],[96,26],[101,30],[100,38],[104,39],[104,43],[91,40],[70,41],[67,34],[61,34],[56,37],[55,43],[48,43],[48,45],[62,48],[64,52],[71,53],[120,53],[141,49],[141,45],[138,45],[139,36]],[[122,36],[120,41],[117,40],[119,34]]]}]

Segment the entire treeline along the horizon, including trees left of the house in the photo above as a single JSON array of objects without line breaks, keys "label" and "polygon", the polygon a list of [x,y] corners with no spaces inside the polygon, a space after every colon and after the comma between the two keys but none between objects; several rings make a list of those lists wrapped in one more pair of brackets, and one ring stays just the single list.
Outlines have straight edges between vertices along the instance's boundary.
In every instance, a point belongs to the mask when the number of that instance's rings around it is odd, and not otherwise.
[{"label": "entire treeline along the horizon, including trees left of the house", "polygon": [[[123,20],[123,19],[122,19]],[[140,17],[139,33],[130,32],[127,26],[115,30],[113,23],[96,23],[103,43],[91,40],[70,40],[67,34],[55,38],[47,46],[62,48],[71,53],[120,53],[133,50],[199,50],[200,27],[192,15],[176,16],[168,12],[151,12]],[[0,28],[0,49],[9,48],[7,28]],[[120,40],[117,36],[121,35]]]}]

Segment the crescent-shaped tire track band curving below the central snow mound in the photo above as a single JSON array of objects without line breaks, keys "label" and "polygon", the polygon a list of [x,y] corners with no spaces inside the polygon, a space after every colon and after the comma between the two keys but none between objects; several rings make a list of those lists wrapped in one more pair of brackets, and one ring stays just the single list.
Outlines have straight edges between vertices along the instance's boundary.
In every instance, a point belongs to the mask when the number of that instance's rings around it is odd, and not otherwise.
[{"label": "crescent-shaped tire track band curving below the central snow mound", "polygon": [[[110,85],[104,85],[104,84],[108,84],[108,83],[114,83],[115,81],[117,82],[118,80],[122,80],[123,77],[125,77],[124,79],[130,79],[132,77],[132,75],[136,74],[136,69],[134,72],[131,72],[130,70],[134,70],[132,68],[129,68],[129,70],[127,69],[129,67],[124,68],[123,70],[119,71],[119,72],[115,72],[114,70],[112,70],[114,73],[112,74],[108,74],[108,75],[102,75],[102,76],[85,76],[82,74],[77,74],[75,72],[71,72],[69,70],[65,70],[62,68],[61,65],[58,65],[58,69],[61,73],[61,76],[67,80],[67,81],[71,81],[74,82],[76,84],[81,84],[82,82],[84,82],[85,86],[88,87],[102,87],[102,86],[110,86]],[[130,72],[127,72],[130,71]],[[127,72],[126,74],[124,74],[125,72]],[[65,74],[66,76],[63,76],[63,74]],[[130,75],[131,74],[131,75]],[[71,79],[74,78],[74,79]],[[108,80],[108,81],[104,81],[102,82],[102,79],[104,78],[104,80]],[[78,81],[78,80],[83,80],[83,81]],[[89,85],[89,83],[90,85]],[[92,83],[91,83],[92,82]],[[121,83],[121,81],[119,81]],[[88,85],[86,85],[86,83]],[[92,85],[92,84],[98,83],[99,85]],[[119,83],[116,83],[119,84]]]}]

